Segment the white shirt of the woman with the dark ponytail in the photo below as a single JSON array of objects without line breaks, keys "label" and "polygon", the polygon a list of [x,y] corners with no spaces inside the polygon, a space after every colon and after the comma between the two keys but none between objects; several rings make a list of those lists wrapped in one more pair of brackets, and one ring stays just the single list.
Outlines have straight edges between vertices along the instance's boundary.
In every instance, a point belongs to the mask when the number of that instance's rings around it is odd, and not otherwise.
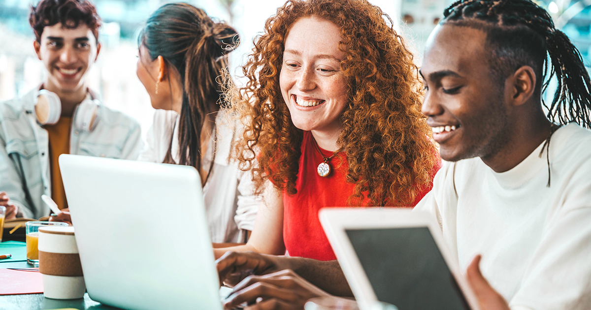
[{"label": "white shirt of the woman with the dark ponytail", "polygon": [[[178,114],[170,110],[156,110],[154,123],[148,130],[144,149],[139,159],[150,162],[163,162],[170,146],[174,161],[178,162]],[[216,155],[211,175],[203,187],[203,198],[212,242],[245,242],[246,230],[254,226],[256,212],[263,204],[261,197],[253,195],[254,184],[250,172],[238,169],[238,164],[230,158],[234,139],[238,138],[236,124],[223,112],[216,116]],[[213,158],[213,135],[207,152],[202,159],[202,167],[209,171]]]}]

